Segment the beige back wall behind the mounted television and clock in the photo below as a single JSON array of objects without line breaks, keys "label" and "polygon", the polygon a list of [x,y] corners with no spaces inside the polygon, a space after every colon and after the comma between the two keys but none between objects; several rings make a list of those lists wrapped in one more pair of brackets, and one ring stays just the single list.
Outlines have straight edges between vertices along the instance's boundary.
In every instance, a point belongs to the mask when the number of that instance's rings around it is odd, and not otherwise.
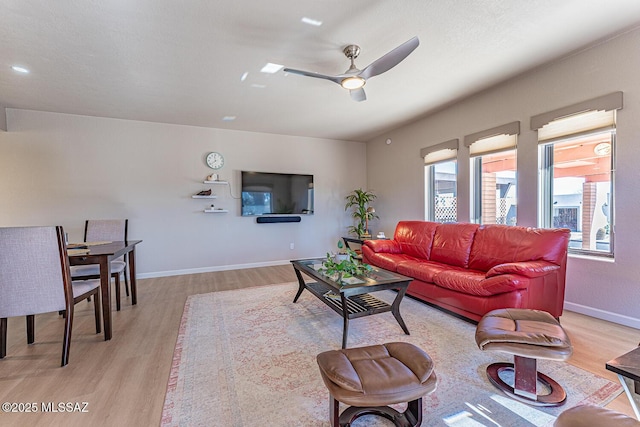
[{"label": "beige back wall behind the mounted television and clock", "polygon": [[[87,218],[129,218],[143,239],[141,277],[286,263],[335,249],[351,224],[344,197],[366,185],[364,143],[8,109],[0,133],[0,224],[62,225],[82,239]],[[194,200],[225,156],[215,200]],[[240,216],[240,171],[315,176],[315,215],[257,224]],[[231,190],[231,192],[229,191]],[[209,204],[229,209],[205,214]],[[294,243],[295,249],[289,249]]]}]

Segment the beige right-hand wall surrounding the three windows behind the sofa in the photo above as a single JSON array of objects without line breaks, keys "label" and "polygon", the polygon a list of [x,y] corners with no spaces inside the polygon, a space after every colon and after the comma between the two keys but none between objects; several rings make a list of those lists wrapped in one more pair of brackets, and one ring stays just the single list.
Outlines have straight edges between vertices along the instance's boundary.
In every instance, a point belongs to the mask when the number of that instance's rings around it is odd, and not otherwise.
[{"label": "beige right-hand wall surrounding the three windows behind the sofa", "polygon": [[[537,225],[537,134],[531,116],[615,91],[618,113],[615,176],[615,261],[571,257],[565,307],[640,328],[640,30],[635,30],[388,132],[367,146],[367,179],[379,200],[381,227],[424,219],[420,148],[521,121],[518,139],[518,224]],[[387,138],[392,144],[385,144]],[[462,146],[462,144],[461,144]],[[458,155],[458,220],[469,221],[469,156]]]}]

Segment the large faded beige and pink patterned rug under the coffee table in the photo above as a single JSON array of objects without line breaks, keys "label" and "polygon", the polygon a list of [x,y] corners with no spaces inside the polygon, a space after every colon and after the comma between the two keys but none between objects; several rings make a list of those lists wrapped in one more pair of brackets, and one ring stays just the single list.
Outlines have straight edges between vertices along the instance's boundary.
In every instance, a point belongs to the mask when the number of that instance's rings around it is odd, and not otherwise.
[{"label": "large faded beige and pink patterned rug under the coffee table", "polygon": [[[329,395],[316,355],[340,348],[342,318],[308,291],[294,304],[297,287],[284,283],[188,298],[162,426],[329,425]],[[391,302],[395,293],[375,296]],[[509,362],[509,356],[480,351],[473,324],[410,298],[400,311],[411,335],[391,313],[377,314],[350,321],[348,347],[406,341],[431,356],[438,387],[423,399],[423,426],[547,426],[566,408],[606,405],[622,392],[568,363],[540,361],[538,369],[567,390],[567,403],[540,409],[515,402],[485,374],[488,364]],[[353,423],[391,425],[373,416]]]}]

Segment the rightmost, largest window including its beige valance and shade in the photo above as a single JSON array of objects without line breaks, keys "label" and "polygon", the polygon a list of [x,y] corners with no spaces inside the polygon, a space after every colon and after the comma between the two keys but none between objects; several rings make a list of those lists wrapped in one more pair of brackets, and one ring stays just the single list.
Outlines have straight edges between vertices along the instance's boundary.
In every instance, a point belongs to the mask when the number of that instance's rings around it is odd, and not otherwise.
[{"label": "rightmost, largest window including its beige valance and shade", "polygon": [[571,230],[570,253],[614,254],[620,108],[622,92],[616,92],[531,118],[539,143],[539,225]]}]

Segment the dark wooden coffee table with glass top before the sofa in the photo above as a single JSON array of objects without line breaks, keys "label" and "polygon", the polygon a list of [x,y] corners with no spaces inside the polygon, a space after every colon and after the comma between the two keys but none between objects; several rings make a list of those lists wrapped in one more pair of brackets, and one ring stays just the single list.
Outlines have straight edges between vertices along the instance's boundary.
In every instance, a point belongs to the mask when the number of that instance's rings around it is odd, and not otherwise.
[{"label": "dark wooden coffee table with glass top before the sofa", "polygon": [[[320,301],[328,305],[333,311],[342,316],[342,348],[347,348],[347,334],[349,332],[349,320],[358,317],[370,316],[372,314],[391,312],[405,334],[409,335],[409,330],[404,324],[400,315],[400,302],[404,297],[411,277],[402,276],[391,271],[377,267],[366,276],[349,277],[340,283],[335,282],[331,277],[325,276],[318,269],[322,267],[324,258],[292,260],[293,268],[298,278],[298,293],[293,302],[297,302],[302,291],[307,289]],[[305,283],[302,276],[305,275],[317,280],[317,282]],[[372,295],[371,292],[395,289],[398,291],[391,305],[381,301]]]}]

